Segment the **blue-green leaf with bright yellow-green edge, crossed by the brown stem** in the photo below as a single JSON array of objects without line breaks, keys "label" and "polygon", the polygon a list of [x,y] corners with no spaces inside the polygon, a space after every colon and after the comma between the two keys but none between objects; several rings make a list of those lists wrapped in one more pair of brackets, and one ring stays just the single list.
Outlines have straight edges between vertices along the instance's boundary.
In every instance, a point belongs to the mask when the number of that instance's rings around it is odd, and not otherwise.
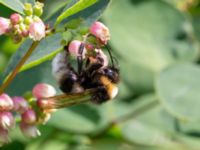
[{"label": "blue-green leaf with bright yellow-green edge, crossed by the brown stem", "polygon": [[[29,69],[51,59],[56,53],[62,50],[60,39],[61,34],[55,34],[42,40],[20,71]],[[31,43],[31,40],[25,41],[18,49],[18,51],[12,56],[10,63],[4,73],[4,77],[8,76],[8,74],[14,69],[16,64],[30,47]]]}]

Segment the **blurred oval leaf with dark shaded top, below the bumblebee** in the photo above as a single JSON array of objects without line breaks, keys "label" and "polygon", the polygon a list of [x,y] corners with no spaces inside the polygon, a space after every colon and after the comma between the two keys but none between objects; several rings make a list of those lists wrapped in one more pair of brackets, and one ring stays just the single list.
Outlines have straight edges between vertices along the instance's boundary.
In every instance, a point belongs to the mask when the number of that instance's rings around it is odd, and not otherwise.
[{"label": "blurred oval leaf with dark shaded top, below the bumblebee", "polygon": [[100,120],[96,109],[87,105],[79,105],[57,111],[48,124],[63,131],[83,134],[94,132]]}]

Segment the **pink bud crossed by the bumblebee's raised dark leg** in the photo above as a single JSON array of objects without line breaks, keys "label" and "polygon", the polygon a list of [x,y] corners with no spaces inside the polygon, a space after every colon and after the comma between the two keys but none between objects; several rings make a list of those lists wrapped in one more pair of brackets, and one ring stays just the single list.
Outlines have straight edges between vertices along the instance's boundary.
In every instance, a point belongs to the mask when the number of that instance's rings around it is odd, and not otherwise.
[{"label": "pink bud crossed by the bumblebee's raised dark leg", "polygon": [[[71,41],[71,43],[69,44],[69,52],[73,55],[73,56],[81,56],[81,52],[79,52],[80,50],[80,46],[81,46],[81,41],[78,40],[74,40]],[[82,52],[82,57],[85,58],[85,53],[86,53],[86,49],[85,47],[83,47],[83,52]]]}]

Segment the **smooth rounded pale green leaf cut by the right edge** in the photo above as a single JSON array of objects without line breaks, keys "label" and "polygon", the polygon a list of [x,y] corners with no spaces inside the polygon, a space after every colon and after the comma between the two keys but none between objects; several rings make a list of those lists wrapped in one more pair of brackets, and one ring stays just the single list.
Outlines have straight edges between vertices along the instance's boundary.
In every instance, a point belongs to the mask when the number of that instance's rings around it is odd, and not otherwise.
[{"label": "smooth rounded pale green leaf cut by the right edge", "polygon": [[181,120],[199,120],[200,68],[179,64],[163,70],[156,81],[156,91],[162,105]]}]

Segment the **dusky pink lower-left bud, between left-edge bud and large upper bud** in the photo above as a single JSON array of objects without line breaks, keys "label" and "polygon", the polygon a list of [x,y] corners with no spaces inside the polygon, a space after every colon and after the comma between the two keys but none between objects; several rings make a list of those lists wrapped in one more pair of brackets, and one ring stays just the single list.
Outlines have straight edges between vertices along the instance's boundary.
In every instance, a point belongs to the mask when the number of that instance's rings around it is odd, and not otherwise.
[{"label": "dusky pink lower-left bud, between left-edge bud and large upper bud", "polygon": [[28,109],[28,103],[23,97],[15,96],[12,99],[14,102],[14,111],[23,113]]}]

